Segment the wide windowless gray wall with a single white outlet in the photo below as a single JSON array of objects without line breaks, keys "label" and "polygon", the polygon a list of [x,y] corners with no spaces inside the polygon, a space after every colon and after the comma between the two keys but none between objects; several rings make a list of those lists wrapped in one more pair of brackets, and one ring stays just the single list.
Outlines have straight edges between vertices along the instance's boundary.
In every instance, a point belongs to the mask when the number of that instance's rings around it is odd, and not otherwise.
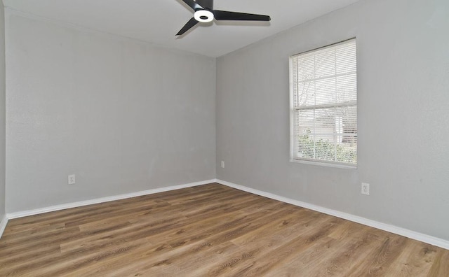
[{"label": "wide windowless gray wall with a single white outlet", "polygon": [[215,178],[215,59],[6,12],[8,213]]}]

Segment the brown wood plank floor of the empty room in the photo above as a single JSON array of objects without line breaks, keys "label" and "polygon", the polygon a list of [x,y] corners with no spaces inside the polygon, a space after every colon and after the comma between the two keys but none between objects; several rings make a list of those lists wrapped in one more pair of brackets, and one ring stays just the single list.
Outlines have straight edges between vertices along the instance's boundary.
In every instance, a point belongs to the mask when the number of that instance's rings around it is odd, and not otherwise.
[{"label": "brown wood plank floor of the empty room", "polygon": [[210,184],[11,220],[0,276],[449,276],[449,250]]}]

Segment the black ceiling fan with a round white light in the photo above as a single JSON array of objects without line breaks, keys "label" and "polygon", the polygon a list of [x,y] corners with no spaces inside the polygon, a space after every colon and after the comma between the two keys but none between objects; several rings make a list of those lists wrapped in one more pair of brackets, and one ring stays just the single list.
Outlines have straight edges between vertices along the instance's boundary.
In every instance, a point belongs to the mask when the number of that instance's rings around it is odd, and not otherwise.
[{"label": "black ceiling fan with a round white light", "polygon": [[245,20],[245,21],[270,21],[268,15],[254,15],[252,13],[236,13],[226,10],[214,10],[213,0],[182,0],[195,11],[187,24],[177,32],[176,36],[184,34],[198,22],[211,22],[212,20]]}]

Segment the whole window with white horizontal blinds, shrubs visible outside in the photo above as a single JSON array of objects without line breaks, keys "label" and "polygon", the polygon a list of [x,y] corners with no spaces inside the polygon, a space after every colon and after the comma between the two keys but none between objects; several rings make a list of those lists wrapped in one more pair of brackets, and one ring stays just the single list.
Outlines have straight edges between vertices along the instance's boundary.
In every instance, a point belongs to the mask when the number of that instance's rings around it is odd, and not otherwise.
[{"label": "whole window with white horizontal blinds, shrubs visible outside", "polygon": [[357,165],[356,40],[290,57],[291,160]]}]

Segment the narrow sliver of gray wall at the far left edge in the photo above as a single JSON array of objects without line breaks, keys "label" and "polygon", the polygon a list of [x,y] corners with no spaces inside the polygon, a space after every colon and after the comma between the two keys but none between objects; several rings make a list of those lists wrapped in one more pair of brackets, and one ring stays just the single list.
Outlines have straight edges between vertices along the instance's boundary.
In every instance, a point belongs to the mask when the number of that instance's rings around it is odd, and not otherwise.
[{"label": "narrow sliver of gray wall at the far left edge", "polygon": [[5,215],[5,13],[0,2],[0,220]]}]

